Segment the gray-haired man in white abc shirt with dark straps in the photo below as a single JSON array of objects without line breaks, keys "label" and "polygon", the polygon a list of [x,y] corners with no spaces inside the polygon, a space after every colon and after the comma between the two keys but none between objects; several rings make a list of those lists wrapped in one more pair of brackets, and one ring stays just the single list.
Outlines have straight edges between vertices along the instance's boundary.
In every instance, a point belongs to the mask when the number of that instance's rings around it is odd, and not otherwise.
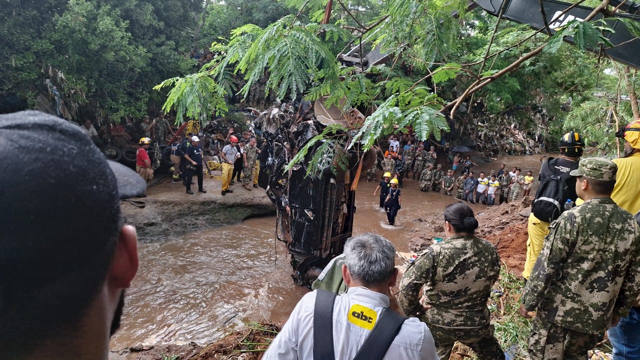
[{"label": "gray-haired man in white abc shirt with dark straps", "polygon": [[382,236],[353,236],[344,246],[346,293],[305,295],[262,358],[437,360],[426,324],[406,318],[391,293],[395,259],[396,248]]}]

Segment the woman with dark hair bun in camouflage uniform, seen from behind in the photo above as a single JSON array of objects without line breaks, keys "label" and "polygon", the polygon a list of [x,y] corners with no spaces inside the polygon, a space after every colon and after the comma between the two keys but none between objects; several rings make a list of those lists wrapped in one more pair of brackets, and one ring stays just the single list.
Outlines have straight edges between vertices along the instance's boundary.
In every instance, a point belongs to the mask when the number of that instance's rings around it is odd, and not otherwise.
[{"label": "woman with dark hair bun in camouflage uniform, seen from behind", "polygon": [[449,360],[456,341],[472,348],[479,360],[504,359],[487,308],[500,274],[498,250],[474,235],[478,222],[467,204],[447,205],[444,220],[447,238],[408,266],[398,302],[407,316],[429,325],[441,360]]}]

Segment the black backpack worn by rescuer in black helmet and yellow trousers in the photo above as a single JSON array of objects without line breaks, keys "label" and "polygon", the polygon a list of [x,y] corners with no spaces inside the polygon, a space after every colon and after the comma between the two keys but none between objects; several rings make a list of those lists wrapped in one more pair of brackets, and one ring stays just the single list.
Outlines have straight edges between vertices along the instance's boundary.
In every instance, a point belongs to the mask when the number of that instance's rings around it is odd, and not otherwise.
[{"label": "black backpack worn by rescuer in black helmet and yellow trousers", "polygon": [[557,176],[556,169],[551,167],[551,160],[547,161],[547,167],[553,175],[540,184],[536,199],[531,204],[533,215],[546,222],[556,220],[563,213],[564,202],[569,197],[566,181],[571,178],[569,172]]}]

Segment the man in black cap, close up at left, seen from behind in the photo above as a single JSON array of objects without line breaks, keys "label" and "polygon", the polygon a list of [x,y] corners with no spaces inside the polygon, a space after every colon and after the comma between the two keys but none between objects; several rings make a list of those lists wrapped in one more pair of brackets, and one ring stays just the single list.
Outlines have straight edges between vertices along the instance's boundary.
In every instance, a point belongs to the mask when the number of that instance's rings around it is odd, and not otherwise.
[{"label": "man in black cap, close up at left, seen from behind", "polygon": [[138,270],[120,199],[145,181],[38,111],[0,115],[0,152],[0,358],[106,359]]}]

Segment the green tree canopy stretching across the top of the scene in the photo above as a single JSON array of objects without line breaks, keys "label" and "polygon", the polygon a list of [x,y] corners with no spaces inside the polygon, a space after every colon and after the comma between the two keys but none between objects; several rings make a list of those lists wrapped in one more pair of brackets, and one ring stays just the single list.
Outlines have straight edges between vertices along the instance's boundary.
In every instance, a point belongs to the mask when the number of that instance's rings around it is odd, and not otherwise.
[{"label": "green tree canopy stretching across the top of the scene", "polygon": [[[638,116],[626,100],[635,70],[586,52],[612,45],[595,18],[550,37],[463,0],[31,0],[0,15],[2,111],[119,121],[164,107],[180,122],[223,114],[263,82],[280,99],[376,106],[355,136],[367,145],[394,126],[439,140],[513,122],[554,137],[600,129],[603,151],[612,127],[600,125]],[[376,48],[386,59],[361,72],[339,60],[352,48],[352,58]]]}]

